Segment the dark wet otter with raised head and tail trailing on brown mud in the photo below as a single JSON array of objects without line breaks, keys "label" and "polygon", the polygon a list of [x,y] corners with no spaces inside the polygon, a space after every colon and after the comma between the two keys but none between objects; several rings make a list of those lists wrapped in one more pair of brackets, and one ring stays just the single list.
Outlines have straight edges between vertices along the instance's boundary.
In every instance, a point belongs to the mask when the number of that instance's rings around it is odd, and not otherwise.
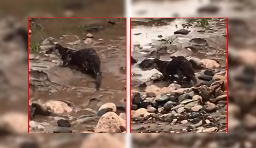
[{"label": "dark wet otter with raised head and tail trailing on brown mud", "polygon": [[83,71],[92,74],[96,78],[96,90],[99,90],[101,84],[100,57],[92,48],[85,48],[78,51],[62,47],[55,44],[58,49],[63,66],[76,65],[82,67]]}]

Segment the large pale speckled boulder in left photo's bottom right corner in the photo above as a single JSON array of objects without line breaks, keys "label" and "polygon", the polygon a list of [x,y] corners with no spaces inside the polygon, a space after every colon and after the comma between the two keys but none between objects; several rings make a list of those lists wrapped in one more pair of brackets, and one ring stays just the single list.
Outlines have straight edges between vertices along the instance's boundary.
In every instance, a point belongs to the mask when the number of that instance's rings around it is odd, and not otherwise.
[{"label": "large pale speckled boulder in left photo's bottom right corner", "polygon": [[95,127],[96,133],[121,133],[126,128],[126,122],[114,112],[105,113],[101,116]]}]

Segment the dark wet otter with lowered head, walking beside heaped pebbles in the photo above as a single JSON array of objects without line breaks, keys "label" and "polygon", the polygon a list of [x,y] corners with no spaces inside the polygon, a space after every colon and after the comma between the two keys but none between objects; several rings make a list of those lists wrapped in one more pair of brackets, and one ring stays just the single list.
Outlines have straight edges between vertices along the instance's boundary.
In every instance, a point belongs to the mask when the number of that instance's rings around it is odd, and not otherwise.
[{"label": "dark wet otter with lowered head, walking beside heaped pebbles", "polygon": [[193,70],[192,64],[183,56],[171,57],[172,61],[162,61],[159,59],[145,59],[139,66],[142,68],[156,68],[163,75],[165,80],[169,80],[170,75],[178,75],[179,81],[183,80],[185,76],[187,81],[193,81],[197,83],[195,72]]}]

